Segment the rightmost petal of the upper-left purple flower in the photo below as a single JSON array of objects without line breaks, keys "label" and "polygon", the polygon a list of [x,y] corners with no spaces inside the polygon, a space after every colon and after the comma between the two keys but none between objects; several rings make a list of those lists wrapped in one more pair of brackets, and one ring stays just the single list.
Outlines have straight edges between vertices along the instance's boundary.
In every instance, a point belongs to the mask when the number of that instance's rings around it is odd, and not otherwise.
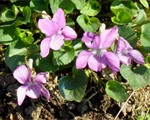
[{"label": "rightmost petal of the upper-left purple flower", "polygon": [[69,26],[65,26],[62,29],[62,35],[64,35],[65,40],[74,40],[77,38],[77,33]]}]

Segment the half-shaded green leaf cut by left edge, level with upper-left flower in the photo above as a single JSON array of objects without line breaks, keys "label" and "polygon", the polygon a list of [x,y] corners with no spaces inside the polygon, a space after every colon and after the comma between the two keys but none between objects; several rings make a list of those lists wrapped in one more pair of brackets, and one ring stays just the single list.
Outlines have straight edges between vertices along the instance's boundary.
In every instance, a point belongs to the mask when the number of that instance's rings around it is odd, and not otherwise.
[{"label": "half-shaded green leaf cut by left edge, level with upper-left flower", "polygon": [[0,27],[0,43],[8,45],[14,40],[18,40],[20,34],[19,28],[14,26]]}]

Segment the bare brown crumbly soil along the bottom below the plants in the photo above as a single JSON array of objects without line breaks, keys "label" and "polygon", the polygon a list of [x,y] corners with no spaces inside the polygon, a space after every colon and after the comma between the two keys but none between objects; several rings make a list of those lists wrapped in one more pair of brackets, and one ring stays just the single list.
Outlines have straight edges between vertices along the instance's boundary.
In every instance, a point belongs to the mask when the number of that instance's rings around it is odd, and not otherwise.
[{"label": "bare brown crumbly soil along the bottom below the plants", "polygon": [[[7,71],[7,72],[6,72]],[[86,96],[80,103],[66,101],[58,90],[59,76],[50,75],[45,87],[50,91],[50,101],[43,96],[38,99],[25,98],[17,105],[16,90],[20,84],[7,68],[0,68],[0,120],[114,120],[125,102],[119,103],[110,98],[101,84],[88,85]],[[131,87],[123,82],[132,93]],[[150,85],[134,91],[116,120],[135,120],[149,108]],[[137,115],[135,114],[137,113]]]}]

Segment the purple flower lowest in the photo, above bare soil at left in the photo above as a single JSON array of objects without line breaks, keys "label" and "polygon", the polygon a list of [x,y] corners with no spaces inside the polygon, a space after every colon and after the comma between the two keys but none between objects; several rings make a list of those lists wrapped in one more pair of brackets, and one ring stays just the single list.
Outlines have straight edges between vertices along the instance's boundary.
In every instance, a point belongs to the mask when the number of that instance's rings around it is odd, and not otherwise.
[{"label": "purple flower lowest in the photo, above bare soil at left", "polygon": [[47,101],[49,101],[50,94],[42,85],[42,83],[45,83],[47,80],[46,73],[41,72],[35,76],[31,74],[31,71],[25,65],[20,65],[13,72],[13,76],[20,84],[23,84],[17,90],[18,105],[22,104],[26,95],[30,98],[36,99],[40,94],[43,94]]}]

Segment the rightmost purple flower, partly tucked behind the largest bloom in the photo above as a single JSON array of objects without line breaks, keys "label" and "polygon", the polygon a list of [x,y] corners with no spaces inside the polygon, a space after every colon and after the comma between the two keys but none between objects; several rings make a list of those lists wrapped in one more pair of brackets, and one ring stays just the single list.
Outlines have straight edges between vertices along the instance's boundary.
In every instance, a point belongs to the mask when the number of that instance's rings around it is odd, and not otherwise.
[{"label": "rightmost purple flower, partly tucked behind the largest bloom", "polygon": [[131,64],[132,59],[136,63],[145,64],[143,55],[138,50],[134,50],[123,37],[119,37],[116,50],[116,55],[126,66]]}]

